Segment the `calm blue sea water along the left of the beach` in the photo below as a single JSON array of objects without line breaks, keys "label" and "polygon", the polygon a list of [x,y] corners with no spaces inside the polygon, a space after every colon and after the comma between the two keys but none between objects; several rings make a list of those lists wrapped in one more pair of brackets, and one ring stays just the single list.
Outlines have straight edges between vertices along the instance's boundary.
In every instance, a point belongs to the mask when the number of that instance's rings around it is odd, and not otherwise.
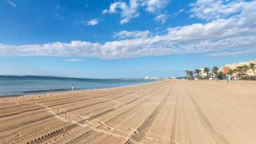
[{"label": "calm blue sea water along the left of the beach", "polygon": [[76,90],[112,88],[149,83],[145,79],[76,79],[66,77],[0,76],[0,96],[37,93],[68,92],[72,84]]}]

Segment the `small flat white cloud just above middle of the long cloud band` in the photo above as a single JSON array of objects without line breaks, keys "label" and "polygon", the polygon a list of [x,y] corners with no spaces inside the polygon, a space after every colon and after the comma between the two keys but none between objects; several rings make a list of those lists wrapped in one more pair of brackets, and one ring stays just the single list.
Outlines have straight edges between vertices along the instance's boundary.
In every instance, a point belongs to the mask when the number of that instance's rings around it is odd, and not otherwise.
[{"label": "small flat white cloud just above middle of the long cloud band", "polygon": [[114,36],[118,39],[124,38],[147,38],[150,35],[150,31],[119,31]]}]

